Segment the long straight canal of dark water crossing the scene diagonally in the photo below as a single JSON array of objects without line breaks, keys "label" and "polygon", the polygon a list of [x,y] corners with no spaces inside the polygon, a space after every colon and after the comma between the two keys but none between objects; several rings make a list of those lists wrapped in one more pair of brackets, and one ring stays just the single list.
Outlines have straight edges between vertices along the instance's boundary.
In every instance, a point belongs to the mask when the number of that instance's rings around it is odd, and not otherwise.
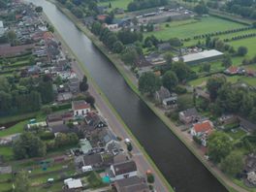
[{"label": "long straight canal of dark water crossing the scene diagonally", "polygon": [[48,18],[86,66],[132,133],[176,191],[222,192],[224,186],[130,89],[111,62],[73,22],[45,0],[28,0]]}]

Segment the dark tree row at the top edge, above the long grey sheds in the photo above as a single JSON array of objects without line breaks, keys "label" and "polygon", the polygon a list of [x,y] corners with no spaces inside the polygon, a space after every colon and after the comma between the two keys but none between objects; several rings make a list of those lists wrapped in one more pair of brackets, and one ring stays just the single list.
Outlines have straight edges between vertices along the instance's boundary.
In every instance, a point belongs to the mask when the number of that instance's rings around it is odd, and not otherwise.
[{"label": "dark tree row at the top edge, above the long grey sheds", "polygon": [[127,9],[129,12],[144,10],[164,6],[168,4],[168,0],[133,0],[128,4]]}]

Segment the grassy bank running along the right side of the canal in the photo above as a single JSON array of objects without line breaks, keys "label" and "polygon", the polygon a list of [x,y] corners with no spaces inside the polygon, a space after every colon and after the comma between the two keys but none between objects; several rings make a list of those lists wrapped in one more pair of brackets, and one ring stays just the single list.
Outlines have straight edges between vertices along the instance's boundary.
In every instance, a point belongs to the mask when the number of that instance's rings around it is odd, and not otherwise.
[{"label": "grassy bank running along the right side of the canal", "polygon": [[[93,34],[90,33],[90,31],[88,31],[87,28],[85,28],[85,26],[82,25],[82,23],[80,23],[80,20],[78,18],[76,18],[75,16],[73,16],[68,10],[66,10],[65,8],[59,7],[60,11],[63,12],[66,16],[69,16],[69,18],[77,25],[77,27],[88,37],[92,40],[92,43],[99,48],[99,50],[101,50],[108,59],[110,59],[112,61],[112,63],[114,64],[114,66],[116,67],[116,69],[119,71],[119,73],[123,76],[124,80],[126,80],[126,82],[130,85],[130,87],[133,89],[133,91],[135,93],[138,94],[139,97],[141,97],[144,101],[144,103],[152,110],[152,112],[154,112],[157,116],[160,117],[160,119],[162,119],[162,121],[170,128],[170,130],[175,133],[176,137],[183,143],[185,144],[190,151],[205,165],[205,167],[208,169],[208,171],[215,176],[227,189],[229,189],[230,191],[236,191],[235,189],[233,189],[230,185],[227,184],[226,180],[224,181],[222,176],[218,176],[216,174],[216,172],[213,171],[213,169],[210,167],[210,165],[208,164],[208,162],[206,161],[206,159],[202,158],[202,156],[200,155],[199,151],[196,149],[196,147],[193,147],[191,145],[190,142],[186,141],[183,137],[182,137],[182,133],[179,132],[179,130],[174,129],[174,127],[172,126],[172,122],[170,121],[170,119],[165,116],[165,114],[163,112],[160,112],[160,110],[156,109],[154,107],[154,105],[152,103],[150,103],[138,90],[137,85],[133,82],[133,77],[127,75],[125,68],[123,66],[120,65],[120,63],[122,63],[120,61],[120,59],[118,58],[118,56],[116,54],[110,54],[108,49],[105,48],[105,46],[97,39],[97,37],[95,37]],[[83,67],[83,66],[81,66]],[[84,67],[83,67],[84,68]],[[105,97],[105,96],[104,96]],[[108,99],[105,97],[105,100],[107,101]],[[107,102],[109,103],[109,101]],[[110,103],[109,103],[110,105]],[[114,111],[114,110],[113,110]],[[115,112],[115,111],[114,111]],[[115,112],[116,113],[116,112]],[[116,113],[117,116],[119,116]],[[119,117],[120,118],[120,117]],[[122,121],[123,122],[123,121]],[[126,126],[125,126],[126,127]],[[127,127],[126,127],[127,128]],[[127,128],[127,131],[129,133],[130,130]],[[142,146],[141,146],[142,147]],[[142,147],[143,148],[143,147]],[[151,161],[151,160],[150,160]],[[154,164],[153,164],[154,165]],[[155,167],[155,165],[154,165]],[[159,172],[159,171],[158,171]],[[159,172],[160,173],[160,172]],[[227,178],[225,178],[227,179]],[[229,180],[230,181],[230,180]]]}]

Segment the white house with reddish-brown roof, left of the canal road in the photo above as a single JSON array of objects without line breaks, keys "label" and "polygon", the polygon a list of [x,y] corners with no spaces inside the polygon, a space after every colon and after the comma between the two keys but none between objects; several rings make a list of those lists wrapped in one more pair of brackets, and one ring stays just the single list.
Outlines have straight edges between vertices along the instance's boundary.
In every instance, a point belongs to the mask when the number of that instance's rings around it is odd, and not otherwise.
[{"label": "white house with reddish-brown roof, left of the canal road", "polygon": [[90,105],[82,100],[73,101],[72,110],[74,112],[74,116],[84,116],[85,114],[90,112]]}]

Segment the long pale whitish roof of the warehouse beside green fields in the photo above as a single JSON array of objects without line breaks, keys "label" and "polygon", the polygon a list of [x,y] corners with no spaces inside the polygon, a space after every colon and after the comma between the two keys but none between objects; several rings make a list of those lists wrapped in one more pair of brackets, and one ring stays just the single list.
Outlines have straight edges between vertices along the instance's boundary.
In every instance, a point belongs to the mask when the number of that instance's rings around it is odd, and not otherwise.
[{"label": "long pale whitish roof of the warehouse beside green fields", "polygon": [[[201,59],[207,59],[215,56],[221,56],[221,55],[223,55],[222,52],[215,49],[211,49],[211,50],[204,50],[202,52],[187,54],[182,56],[182,58],[183,58],[183,61],[186,63],[186,62],[192,62],[192,61],[197,61]],[[178,61],[178,57],[175,57],[174,61]]]}]

